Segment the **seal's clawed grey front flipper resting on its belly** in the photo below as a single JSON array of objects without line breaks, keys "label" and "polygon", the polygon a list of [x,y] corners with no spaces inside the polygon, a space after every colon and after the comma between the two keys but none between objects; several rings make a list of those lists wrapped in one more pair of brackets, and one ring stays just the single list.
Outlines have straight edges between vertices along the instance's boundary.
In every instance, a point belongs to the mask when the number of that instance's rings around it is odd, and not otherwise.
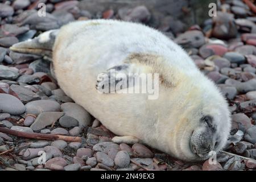
[{"label": "seal's clawed grey front flipper resting on its belly", "polygon": [[139,69],[134,64],[120,64],[109,68],[98,75],[96,89],[101,93],[114,93],[134,86],[129,80],[134,78],[134,73],[138,73]]}]

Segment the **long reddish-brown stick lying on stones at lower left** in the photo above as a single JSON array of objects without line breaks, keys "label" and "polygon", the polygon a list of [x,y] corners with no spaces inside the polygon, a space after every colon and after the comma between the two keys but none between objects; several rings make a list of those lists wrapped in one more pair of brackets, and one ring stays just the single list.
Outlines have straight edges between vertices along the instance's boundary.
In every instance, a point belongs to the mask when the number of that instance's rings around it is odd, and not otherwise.
[{"label": "long reddish-brown stick lying on stones at lower left", "polygon": [[9,135],[14,135],[16,137],[23,137],[23,138],[64,140],[66,142],[81,142],[80,137],[69,137],[69,136],[54,135],[54,134],[26,133],[22,131],[6,129],[5,127],[0,127],[0,132],[9,134]]}]

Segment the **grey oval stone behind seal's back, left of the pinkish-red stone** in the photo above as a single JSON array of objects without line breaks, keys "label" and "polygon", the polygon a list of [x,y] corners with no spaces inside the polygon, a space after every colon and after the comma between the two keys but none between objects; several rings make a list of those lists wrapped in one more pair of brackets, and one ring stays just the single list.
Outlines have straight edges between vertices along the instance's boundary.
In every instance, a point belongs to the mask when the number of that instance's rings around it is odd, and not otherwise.
[{"label": "grey oval stone behind seal's back, left of the pinkish-red stone", "polygon": [[205,44],[205,38],[201,31],[191,30],[180,34],[175,42],[184,48],[199,48]]}]

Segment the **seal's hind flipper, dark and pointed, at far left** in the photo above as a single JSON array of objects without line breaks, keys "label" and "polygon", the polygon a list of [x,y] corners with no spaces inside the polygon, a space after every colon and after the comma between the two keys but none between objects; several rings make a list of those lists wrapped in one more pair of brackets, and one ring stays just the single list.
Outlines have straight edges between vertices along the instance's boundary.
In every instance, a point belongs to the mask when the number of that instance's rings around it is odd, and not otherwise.
[{"label": "seal's hind flipper, dark and pointed, at far left", "polygon": [[52,57],[52,47],[58,32],[59,29],[43,32],[43,34],[40,34],[34,39],[29,39],[24,42],[14,44],[10,47],[10,50]]}]

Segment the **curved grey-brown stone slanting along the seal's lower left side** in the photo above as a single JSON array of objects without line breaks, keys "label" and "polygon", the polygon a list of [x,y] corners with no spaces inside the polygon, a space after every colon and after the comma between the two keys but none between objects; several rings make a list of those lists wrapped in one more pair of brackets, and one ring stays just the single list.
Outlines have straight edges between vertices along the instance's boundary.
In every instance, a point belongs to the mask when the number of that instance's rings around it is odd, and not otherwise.
[{"label": "curved grey-brown stone slanting along the seal's lower left side", "polygon": [[77,119],[80,126],[87,126],[90,124],[90,114],[80,105],[73,102],[67,102],[61,105],[61,110],[65,115]]}]

